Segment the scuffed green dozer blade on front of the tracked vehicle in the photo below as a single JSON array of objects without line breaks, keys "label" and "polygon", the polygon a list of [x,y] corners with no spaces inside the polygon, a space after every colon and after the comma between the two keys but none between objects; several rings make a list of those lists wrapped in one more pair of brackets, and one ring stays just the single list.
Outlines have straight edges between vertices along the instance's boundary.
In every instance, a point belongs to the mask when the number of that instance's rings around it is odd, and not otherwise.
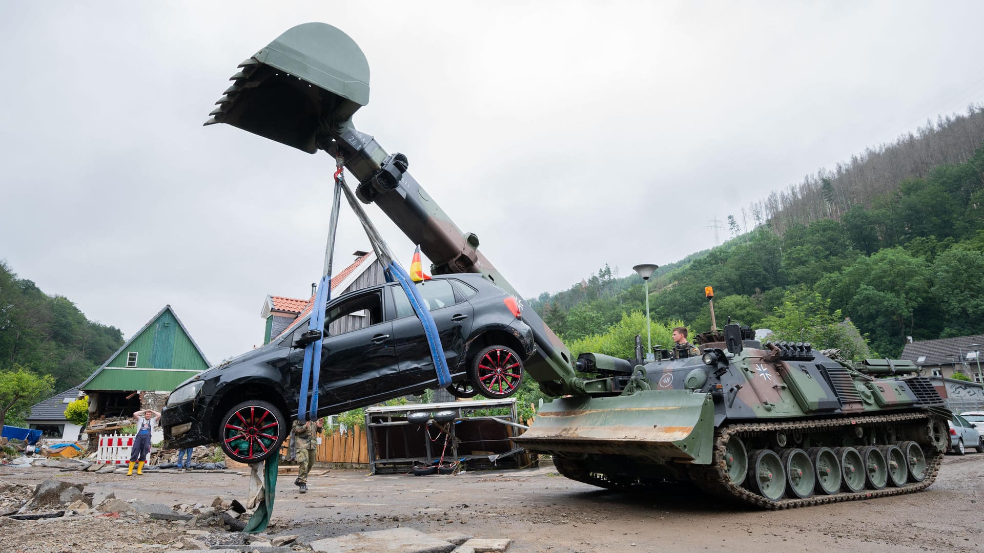
[{"label": "scuffed green dozer blade on front of the tracked vehicle", "polygon": [[513,441],[543,454],[601,454],[707,464],[714,408],[709,394],[649,390],[632,396],[554,399]]}]

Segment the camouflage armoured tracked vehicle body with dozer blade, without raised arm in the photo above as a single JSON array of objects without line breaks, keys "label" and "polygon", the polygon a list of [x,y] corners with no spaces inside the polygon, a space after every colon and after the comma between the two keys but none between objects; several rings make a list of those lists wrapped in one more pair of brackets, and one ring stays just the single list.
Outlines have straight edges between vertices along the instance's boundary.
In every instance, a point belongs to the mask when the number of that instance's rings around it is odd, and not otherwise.
[{"label": "camouflage armoured tracked vehicle body with dozer blade, without raised arm", "polygon": [[910,363],[853,366],[809,344],[730,343],[728,351],[707,341],[702,356],[610,377],[621,395],[544,403],[516,441],[551,454],[575,480],[607,488],[689,480],[768,509],[933,483],[950,415],[928,379],[892,376],[914,372]]}]

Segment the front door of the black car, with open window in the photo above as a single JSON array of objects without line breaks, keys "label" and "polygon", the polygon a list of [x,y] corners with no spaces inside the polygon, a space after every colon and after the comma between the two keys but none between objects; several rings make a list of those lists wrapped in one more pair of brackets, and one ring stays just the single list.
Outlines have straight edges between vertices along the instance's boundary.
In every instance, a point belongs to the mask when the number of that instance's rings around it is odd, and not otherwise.
[{"label": "front door of the black car, with open window", "polygon": [[319,407],[364,402],[400,388],[393,323],[383,317],[383,290],[339,298],[327,309]]}]

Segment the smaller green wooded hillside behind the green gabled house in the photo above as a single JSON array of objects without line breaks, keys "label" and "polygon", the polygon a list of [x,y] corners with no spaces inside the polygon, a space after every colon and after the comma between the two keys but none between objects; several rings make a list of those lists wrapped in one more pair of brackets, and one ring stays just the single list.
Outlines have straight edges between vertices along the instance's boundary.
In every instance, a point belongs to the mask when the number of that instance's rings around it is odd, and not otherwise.
[{"label": "smaller green wooded hillside behind the green gabled house", "polygon": [[0,262],[0,375],[51,375],[53,394],[80,384],[122,345],[119,329],[90,321]]}]

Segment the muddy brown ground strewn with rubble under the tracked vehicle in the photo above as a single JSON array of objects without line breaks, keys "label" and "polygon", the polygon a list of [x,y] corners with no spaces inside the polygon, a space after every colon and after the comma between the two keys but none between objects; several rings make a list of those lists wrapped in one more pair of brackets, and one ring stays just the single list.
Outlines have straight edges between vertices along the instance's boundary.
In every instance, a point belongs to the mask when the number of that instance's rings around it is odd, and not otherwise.
[{"label": "muddy brown ground strewn with rubble under the tracked vehicle", "polygon": [[[59,478],[111,489],[121,499],[209,505],[215,496],[244,500],[247,478],[231,473],[145,473],[141,477],[57,469],[0,467],[0,482]],[[984,551],[984,455],[947,457],[928,490],[763,512],[715,501],[689,488],[618,493],[557,475],[552,467],[465,474],[369,476],[334,470],[312,476],[297,493],[281,477],[270,533],[320,539],[409,526],[511,537],[513,553],[537,551]],[[185,530],[178,522],[68,519],[0,528],[0,551],[167,550]],[[59,544],[59,541],[61,544]]]}]

